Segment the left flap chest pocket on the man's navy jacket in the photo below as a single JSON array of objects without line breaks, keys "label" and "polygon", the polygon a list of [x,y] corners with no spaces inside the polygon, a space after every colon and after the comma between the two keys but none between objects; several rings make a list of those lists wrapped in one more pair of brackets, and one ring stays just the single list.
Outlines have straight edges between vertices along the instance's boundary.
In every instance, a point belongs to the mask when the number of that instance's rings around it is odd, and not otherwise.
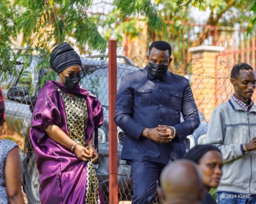
[{"label": "left flap chest pocket on the man's navy jacket", "polygon": [[150,106],[151,89],[136,89],[134,94],[134,103],[138,106]]}]

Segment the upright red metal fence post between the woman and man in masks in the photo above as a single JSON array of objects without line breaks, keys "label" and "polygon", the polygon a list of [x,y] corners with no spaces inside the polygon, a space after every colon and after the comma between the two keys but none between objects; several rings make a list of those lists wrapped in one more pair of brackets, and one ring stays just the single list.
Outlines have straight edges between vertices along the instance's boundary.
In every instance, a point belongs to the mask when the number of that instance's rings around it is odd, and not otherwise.
[{"label": "upright red metal fence post between the woman and man in masks", "polygon": [[116,102],[116,41],[109,40],[109,203],[118,203]]}]

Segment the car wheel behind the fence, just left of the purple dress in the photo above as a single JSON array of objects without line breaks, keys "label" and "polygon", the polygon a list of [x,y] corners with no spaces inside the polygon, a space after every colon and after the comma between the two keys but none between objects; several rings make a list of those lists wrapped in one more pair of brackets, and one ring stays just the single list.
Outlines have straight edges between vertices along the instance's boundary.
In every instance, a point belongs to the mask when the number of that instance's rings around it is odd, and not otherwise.
[{"label": "car wheel behind the fence, just left of the purple dress", "polygon": [[35,154],[32,154],[26,168],[26,194],[28,204],[40,204],[39,173],[36,168]]}]

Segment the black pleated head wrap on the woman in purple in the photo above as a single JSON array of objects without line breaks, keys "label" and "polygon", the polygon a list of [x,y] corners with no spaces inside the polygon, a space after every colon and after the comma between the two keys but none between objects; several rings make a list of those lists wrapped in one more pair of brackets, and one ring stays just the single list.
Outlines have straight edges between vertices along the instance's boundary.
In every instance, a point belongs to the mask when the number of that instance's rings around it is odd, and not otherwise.
[{"label": "black pleated head wrap on the woman in purple", "polygon": [[68,43],[62,43],[52,50],[50,66],[56,73],[60,73],[70,66],[81,66],[81,64],[79,55]]}]

